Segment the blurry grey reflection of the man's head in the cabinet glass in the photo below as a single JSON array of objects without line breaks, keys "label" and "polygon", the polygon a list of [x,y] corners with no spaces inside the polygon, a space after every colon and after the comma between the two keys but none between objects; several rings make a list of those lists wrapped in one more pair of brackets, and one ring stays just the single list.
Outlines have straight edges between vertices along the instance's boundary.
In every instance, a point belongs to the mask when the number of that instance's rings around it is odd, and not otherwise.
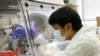
[{"label": "blurry grey reflection of the man's head in the cabinet glass", "polygon": [[[45,28],[45,23],[47,22],[47,17],[45,15],[42,15],[42,14],[39,14],[39,13],[30,13],[29,11],[29,20],[30,22],[31,21],[34,21],[35,22],[35,28],[38,32],[42,32],[43,33],[43,30]],[[32,22],[32,23],[34,23]]]}]

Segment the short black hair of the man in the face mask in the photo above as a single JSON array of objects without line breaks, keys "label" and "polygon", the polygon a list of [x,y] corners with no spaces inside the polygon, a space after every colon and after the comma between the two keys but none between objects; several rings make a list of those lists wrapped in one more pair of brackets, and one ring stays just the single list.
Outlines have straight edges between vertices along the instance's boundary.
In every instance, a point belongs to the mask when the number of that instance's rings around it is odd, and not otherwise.
[{"label": "short black hair of the man in the face mask", "polygon": [[53,12],[49,18],[49,24],[59,24],[62,28],[67,24],[71,23],[72,28],[75,31],[78,31],[82,27],[81,18],[78,13],[69,8],[69,7],[62,7]]}]

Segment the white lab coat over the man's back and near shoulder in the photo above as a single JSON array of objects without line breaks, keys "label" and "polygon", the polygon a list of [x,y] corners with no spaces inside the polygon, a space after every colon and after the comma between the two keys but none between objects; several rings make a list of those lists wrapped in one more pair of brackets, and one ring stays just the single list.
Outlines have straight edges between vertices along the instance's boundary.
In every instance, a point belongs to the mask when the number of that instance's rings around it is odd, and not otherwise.
[{"label": "white lab coat over the man's back and near shoulder", "polygon": [[44,56],[100,56],[100,40],[96,37],[96,28],[83,26],[74,35],[65,50],[49,52]]}]

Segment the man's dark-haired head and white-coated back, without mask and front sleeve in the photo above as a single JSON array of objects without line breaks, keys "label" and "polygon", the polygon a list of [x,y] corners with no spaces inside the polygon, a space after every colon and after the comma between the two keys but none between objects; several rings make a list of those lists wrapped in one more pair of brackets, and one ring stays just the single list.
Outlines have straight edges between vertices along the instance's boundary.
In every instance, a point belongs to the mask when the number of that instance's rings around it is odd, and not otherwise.
[{"label": "man's dark-haired head and white-coated back, without mask and front sleeve", "polygon": [[83,26],[78,13],[69,7],[62,7],[53,12],[49,24],[59,30],[70,44],[64,51],[47,56],[100,56],[100,40],[96,37],[96,29]]}]

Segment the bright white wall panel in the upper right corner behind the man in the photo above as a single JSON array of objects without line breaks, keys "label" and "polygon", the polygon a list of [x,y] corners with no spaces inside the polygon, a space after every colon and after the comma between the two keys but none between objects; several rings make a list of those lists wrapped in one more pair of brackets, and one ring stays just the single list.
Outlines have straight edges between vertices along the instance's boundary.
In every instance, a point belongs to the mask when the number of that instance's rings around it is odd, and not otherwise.
[{"label": "bright white wall panel in the upper right corner behind the man", "polygon": [[95,20],[100,16],[100,0],[83,0],[84,19]]}]

